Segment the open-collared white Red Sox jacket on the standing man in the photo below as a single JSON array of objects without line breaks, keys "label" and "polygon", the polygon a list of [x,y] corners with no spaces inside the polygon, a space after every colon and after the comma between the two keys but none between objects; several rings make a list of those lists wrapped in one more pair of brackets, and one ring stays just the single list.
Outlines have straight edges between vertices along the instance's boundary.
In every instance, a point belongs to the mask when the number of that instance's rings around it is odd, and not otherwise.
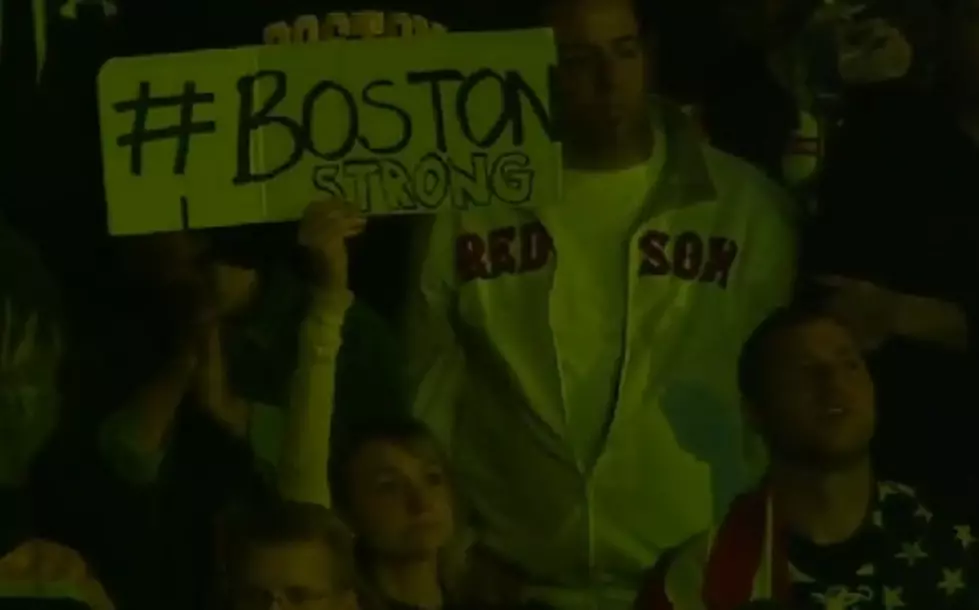
[{"label": "open-collared white Red Sox jacket on the standing man", "polygon": [[[420,240],[416,413],[447,448],[481,539],[560,608],[629,607],[642,570],[760,472],[747,467],[736,361],[789,296],[794,208],[678,109],[656,108],[668,158],[633,238],[619,399],[596,463],[578,463],[567,437],[549,326],[556,260],[533,255],[547,240],[533,211],[440,214]],[[517,272],[461,281],[459,238],[485,245],[491,232],[496,247],[512,238]],[[700,264],[673,264],[678,241]]]}]

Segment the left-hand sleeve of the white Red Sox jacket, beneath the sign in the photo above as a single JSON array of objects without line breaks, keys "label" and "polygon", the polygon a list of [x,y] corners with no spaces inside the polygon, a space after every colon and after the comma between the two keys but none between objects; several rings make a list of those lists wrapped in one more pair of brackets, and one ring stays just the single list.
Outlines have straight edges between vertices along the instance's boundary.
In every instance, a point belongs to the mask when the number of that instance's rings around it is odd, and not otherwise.
[{"label": "left-hand sleeve of the white Red Sox jacket, beneath the sign", "polygon": [[456,306],[452,225],[451,215],[419,220],[402,329],[409,404],[450,455],[465,372],[465,355],[452,324]]}]

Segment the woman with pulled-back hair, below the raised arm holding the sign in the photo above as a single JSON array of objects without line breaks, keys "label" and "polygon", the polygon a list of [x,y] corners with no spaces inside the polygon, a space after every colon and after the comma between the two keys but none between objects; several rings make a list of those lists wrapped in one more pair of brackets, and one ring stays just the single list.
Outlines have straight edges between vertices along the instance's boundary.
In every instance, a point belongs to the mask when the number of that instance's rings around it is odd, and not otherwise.
[{"label": "woman with pulled-back hair, below the raised arm holding the sign", "polygon": [[333,505],[357,534],[371,590],[399,610],[471,606],[459,582],[464,546],[450,544],[462,528],[448,467],[425,426],[378,422],[333,453]]}]

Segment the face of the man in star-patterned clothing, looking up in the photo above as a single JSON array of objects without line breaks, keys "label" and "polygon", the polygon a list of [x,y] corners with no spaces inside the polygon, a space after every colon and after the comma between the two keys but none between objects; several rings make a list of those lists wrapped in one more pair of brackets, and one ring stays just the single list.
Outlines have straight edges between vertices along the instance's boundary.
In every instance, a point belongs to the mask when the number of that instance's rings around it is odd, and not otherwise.
[{"label": "face of the man in star-patterned clothing, looking up", "polygon": [[866,456],[874,433],[874,386],[860,350],[821,319],[779,331],[764,358],[758,417],[773,453],[817,468]]}]

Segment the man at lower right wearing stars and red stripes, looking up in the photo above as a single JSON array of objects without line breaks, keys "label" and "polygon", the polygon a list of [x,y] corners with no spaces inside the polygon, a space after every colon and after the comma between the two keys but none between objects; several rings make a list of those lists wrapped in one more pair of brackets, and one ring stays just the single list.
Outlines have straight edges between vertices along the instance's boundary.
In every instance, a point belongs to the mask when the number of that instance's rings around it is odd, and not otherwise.
[{"label": "man at lower right wearing stars and red stripes, looking up", "polygon": [[740,382],[768,475],[660,566],[637,608],[979,607],[970,527],[874,472],[874,385],[841,324],[776,312],[746,343]]}]

